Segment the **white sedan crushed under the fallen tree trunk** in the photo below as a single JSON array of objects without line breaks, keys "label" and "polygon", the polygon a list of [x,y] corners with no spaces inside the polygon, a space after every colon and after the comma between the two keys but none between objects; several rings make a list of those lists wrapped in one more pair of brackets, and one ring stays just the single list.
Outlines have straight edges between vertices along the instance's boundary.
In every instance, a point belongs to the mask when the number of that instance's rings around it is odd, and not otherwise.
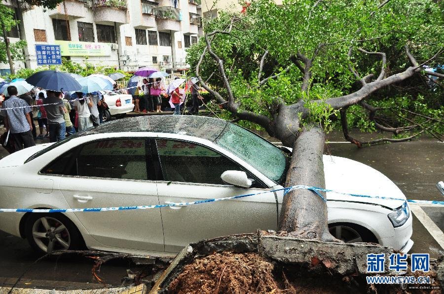
[{"label": "white sedan crushed under the fallen tree trunk", "polygon": [[[219,119],[127,118],[2,159],[0,207],[157,205],[259,193],[282,188],[290,156],[289,150]],[[365,164],[324,156],[324,167],[327,189],[405,199],[392,181]],[[411,248],[412,217],[405,200],[333,193],[327,198],[329,226],[337,238],[403,252]],[[7,212],[0,213],[0,229],[27,238],[40,252],[86,245],[174,256],[189,242],[276,230],[282,199],[280,191],[145,210]]]}]

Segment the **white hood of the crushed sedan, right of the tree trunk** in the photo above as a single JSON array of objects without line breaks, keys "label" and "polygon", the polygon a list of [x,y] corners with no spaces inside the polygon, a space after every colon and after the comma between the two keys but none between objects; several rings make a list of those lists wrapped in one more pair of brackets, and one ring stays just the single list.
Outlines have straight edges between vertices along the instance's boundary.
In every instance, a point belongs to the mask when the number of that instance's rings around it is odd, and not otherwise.
[{"label": "white hood of the crushed sedan, right of the tree trunk", "polygon": [[324,173],[325,186],[328,190],[404,199],[389,200],[327,193],[329,200],[370,203],[395,209],[400,207],[406,199],[406,196],[389,178],[376,169],[354,160],[324,155]]}]

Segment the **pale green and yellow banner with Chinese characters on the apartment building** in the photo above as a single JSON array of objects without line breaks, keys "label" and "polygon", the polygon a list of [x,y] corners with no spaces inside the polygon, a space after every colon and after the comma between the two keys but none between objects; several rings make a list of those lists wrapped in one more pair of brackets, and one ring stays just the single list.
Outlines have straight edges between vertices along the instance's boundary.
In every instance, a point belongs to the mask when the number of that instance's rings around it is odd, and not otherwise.
[{"label": "pale green and yellow banner with Chinese characters on the apartment building", "polygon": [[89,43],[75,41],[55,41],[60,45],[62,56],[110,56],[109,43]]}]

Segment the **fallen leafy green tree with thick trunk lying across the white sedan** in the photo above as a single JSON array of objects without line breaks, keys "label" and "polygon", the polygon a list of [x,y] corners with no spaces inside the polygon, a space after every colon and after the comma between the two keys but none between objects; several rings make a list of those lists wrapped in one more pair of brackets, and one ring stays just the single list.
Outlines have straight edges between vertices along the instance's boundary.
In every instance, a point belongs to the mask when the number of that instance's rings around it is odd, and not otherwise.
[{"label": "fallen leafy green tree with thick trunk lying across the white sedan", "polygon": [[[359,147],[406,141],[442,124],[438,117],[427,126],[414,122],[403,128],[384,126],[376,120],[378,109],[366,102],[381,89],[416,75],[443,77],[425,70],[443,53],[442,41],[436,42],[443,26],[434,1],[288,0],[277,6],[258,0],[244,13],[221,13],[205,22],[204,29],[207,33],[188,52],[188,63],[202,87],[216,98],[223,117],[260,126],[293,147],[287,187],[325,187],[324,131],[338,113],[345,138]],[[405,61],[391,60],[378,47],[402,50]],[[369,63],[359,62],[360,58],[373,62],[365,67],[362,64]],[[415,132],[404,138],[360,142],[347,128],[347,109],[352,105],[368,110],[377,129]],[[326,242],[324,256],[338,263],[337,247],[327,242],[341,241],[328,230],[323,198],[308,190],[288,193],[276,234]]]}]

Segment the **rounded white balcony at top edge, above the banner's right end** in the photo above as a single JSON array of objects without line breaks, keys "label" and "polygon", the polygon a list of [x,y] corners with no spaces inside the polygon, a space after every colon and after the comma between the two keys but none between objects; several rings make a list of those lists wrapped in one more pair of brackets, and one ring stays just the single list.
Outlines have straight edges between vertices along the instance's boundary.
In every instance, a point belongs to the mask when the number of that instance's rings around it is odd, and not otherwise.
[{"label": "rounded white balcony at top edge, above the banner's right end", "polygon": [[127,24],[127,0],[93,0],[94,21]]}]

